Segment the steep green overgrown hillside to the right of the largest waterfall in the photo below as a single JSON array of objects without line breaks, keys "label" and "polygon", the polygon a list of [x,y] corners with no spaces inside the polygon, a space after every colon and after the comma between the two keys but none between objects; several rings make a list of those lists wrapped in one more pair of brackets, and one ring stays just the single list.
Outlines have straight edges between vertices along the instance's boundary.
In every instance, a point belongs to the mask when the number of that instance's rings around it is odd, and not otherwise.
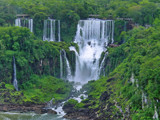
[{"label": "steep green overgrown hillside to the right of the largest waterfall", "polygon": [[[130,110],[130,119],[133,120],[152,119],[155,106],[159,114],[160,104],[157,102],[160,100],[160,32],[157,30],[159,19],[156,19],[154,24],[154,27],[148,29],[137,27],[125,32],[123,34],[125,43],[107,51],[109,53],[105,60],[107,77],[90,81],[84,86],[84,89],[88,90],[88,99],[82,103],[89,103],[90,109],[98,109],[99,116],[121,114],[115,106],[116,102],[123,113],[127,113],[127,109]],[[147,102],[144,102],[145,98],[142,95],[145,95]],[[108,108],[110,104],[113,107]],[[104,112],[104,109],[109,111]]]}]

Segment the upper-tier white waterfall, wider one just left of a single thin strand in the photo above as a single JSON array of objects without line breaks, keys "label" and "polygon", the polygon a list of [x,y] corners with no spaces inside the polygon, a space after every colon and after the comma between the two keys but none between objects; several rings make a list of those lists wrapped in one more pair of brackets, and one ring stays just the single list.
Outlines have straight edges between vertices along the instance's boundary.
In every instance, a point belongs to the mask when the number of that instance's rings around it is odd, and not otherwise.
[{"label": "upper-tier white waterfall, wider one just left of a single thin strand", "polygon": [[55,41],[55,20],[44,21],[43,41]]}]

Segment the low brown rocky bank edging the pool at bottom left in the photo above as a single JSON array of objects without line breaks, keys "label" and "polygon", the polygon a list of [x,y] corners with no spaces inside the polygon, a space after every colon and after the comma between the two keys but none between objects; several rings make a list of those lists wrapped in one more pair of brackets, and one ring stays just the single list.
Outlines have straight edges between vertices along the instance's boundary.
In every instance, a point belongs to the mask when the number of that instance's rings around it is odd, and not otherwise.
[{"label": "low brown rocky bank edging the pool at bottom left", "polygon": [[11,111],[18,111],[18,112],[35,112],[37,114],[57,114],[57,112],[51,109],[44,109],[45,104],[38,104],[38,105],[16,105],[16,104],[0,104],[0,111],[2,112],[11,112]]}]

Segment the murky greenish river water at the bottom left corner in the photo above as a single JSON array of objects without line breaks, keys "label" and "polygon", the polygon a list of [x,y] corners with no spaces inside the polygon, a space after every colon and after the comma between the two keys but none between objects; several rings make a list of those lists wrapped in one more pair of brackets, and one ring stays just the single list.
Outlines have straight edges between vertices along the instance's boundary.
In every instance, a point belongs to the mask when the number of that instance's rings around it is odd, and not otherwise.
[{"label": "murky greenish river water at the bottom left corner", "polygon": [[0,120],[67,120],[52,114],[0,112]]}]

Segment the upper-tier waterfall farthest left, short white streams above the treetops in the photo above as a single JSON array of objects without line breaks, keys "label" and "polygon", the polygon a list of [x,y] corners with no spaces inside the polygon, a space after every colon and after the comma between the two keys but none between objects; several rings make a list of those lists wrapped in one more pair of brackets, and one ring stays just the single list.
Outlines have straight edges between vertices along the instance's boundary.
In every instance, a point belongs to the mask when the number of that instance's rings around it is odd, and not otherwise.
[{"label": "upper-tier waterfall farthest left, short white streams above the treetops", "polygon": [[27,27],[27,28],[30,29],[31,32],[33,32],[33,19],[29,19],[29,18],[17,18],[15,20],[15,26]]}]

